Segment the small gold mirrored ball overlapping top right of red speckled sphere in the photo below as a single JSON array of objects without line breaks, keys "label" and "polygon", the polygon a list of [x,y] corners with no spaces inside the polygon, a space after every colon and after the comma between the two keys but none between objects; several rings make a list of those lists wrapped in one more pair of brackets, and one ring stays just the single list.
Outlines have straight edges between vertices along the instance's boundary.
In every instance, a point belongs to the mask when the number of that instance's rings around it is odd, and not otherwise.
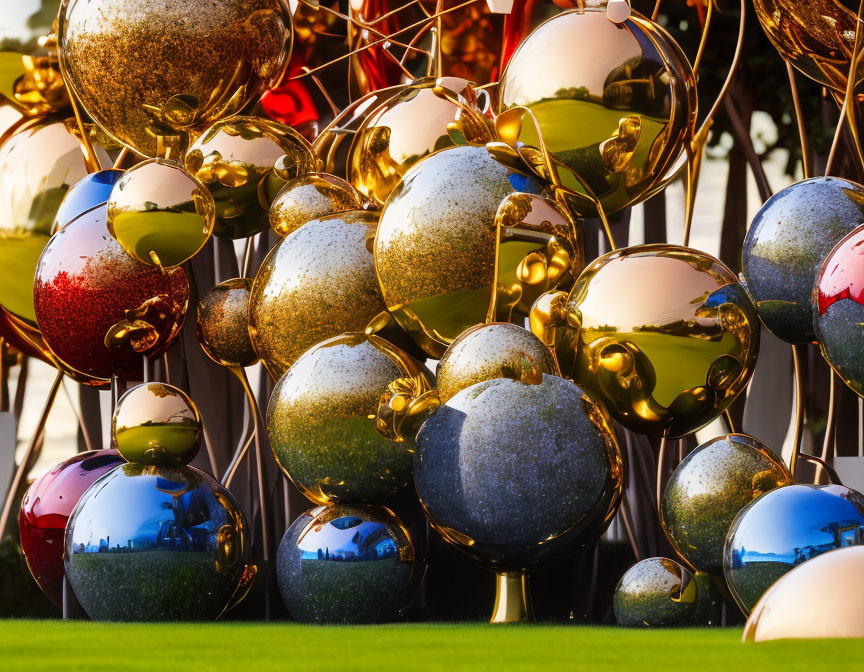
[{"label": "small gold mirrored ball overlapping top right of red speckled sphere", "polygon": [[127,170],[108,199],[108,230],[145,264],[172,268],[204,247],[216,206],[182,164],[150,159]]}]

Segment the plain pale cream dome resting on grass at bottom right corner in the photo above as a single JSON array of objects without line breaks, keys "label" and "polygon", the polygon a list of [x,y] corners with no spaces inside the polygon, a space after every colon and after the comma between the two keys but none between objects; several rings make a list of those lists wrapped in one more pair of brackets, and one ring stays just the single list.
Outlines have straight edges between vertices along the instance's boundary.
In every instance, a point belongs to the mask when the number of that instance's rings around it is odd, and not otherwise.
[{"label": "plain pale cream dome resting on grass at bottom right corner", "polygon": [[784,574],[753,608],[745,642],[864,637],[864,548],[824,553]]}]

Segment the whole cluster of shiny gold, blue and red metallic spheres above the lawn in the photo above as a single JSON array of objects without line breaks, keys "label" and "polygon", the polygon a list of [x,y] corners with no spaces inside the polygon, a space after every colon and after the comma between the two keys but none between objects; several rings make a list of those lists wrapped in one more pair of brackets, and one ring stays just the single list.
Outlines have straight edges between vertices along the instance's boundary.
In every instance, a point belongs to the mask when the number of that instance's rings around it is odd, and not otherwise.
[{"label": "whole cluster of shiny gold, blue and red metallic spheres above the lawn", "polygon": [[[695,76],[657,23],[602,5],[520,15],[530,28],[505,24],[495,95],[479,86],[489,72],[453,60],[394,78],[361,52],[362,95],[310,142],[280,96],[312,6],[211,5],[60,3],[45,64],[60,93],[42,92],[54,106],[10,101],[20,119],[0,129],[0,174],[33,157],[20,184],[0,184],[13,190],[0,261],[20,270],[0,277],[0,333],[82,384],[140,380],[187,317],[184,264],[211,236],[275,231],[254,278],[201,293],[197,329],[215,362],[260,361],[275,384],[269,443],[315,506],[276,556],[295,619],[397,618],[428,519],[499,591],[522,592],[493,620],[530,620],[527,574],[572,559],[618,512],[616,423],[669,439],[717,419],[752,376],[762,324],[818,338],[864,391],[858,185],[817,178],[771,199],[745,243],[746,286],[688,247],[585,259],[583,218],[662,190],[694,141]],[[314,61],[308,39],[295,55]],[[64,82],[95,126],[45,116],[64,110]],[[57,601],[65,573],[94,619],[218,618],[256,570],[242,509],[188,466],[194,403],[133,387],[112,436],[119,454],[72,458],[31,487],[34,576]],[[622,578],[624,625],[708,622],[723,577],[745,612],[767,613],[757,601],[776,579],[864,538],[861,495],[793,485],[743,435],[681,463],[662,518],[680,562]],[[768,595],[789,599],[779,585]]]}]

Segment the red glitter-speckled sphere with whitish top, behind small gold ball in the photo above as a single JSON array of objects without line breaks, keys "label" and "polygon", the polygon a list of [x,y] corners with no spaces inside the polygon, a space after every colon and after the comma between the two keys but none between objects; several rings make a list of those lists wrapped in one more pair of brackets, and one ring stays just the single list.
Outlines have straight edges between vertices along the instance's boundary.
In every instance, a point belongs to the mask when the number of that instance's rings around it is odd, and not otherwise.
[{"label": "red glitter-speckled sphere with whitish top, behind small gold ball", "polygon": [[33,285],[39,329],[67,366],[94,382],[141,380],[180,332],[189,301],[182,269],[162,273],[130,257],[108,233],[107,206],[52,236]]}]

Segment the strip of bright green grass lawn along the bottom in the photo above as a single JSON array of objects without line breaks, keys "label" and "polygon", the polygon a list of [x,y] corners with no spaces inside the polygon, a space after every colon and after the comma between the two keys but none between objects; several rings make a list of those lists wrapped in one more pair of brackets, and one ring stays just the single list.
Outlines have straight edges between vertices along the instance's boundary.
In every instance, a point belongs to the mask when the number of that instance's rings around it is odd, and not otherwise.
[{"label": "strip of bright green grass lawn along the bottom", "polygon": [[811,672],[864,666],[864,640],[741,644],[740,639],[737,628],[0,621],[0,669]]}]

